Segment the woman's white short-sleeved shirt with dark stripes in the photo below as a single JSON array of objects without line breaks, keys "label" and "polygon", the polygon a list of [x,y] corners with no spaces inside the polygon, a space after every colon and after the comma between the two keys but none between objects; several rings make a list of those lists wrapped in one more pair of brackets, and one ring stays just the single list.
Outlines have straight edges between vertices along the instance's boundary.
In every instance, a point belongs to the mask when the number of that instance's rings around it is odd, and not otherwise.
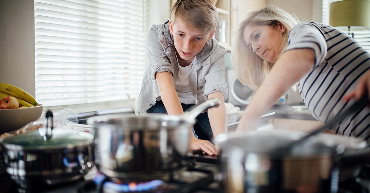
[{"label": "woman's white short-sleeved shirt with dark stripes", "polygon": [[[290,31],[285,51],[299,48],[315,53],[314,68],[298,82],[300,95],[310,113],[326,123],[354,103],[342,98],[369,70],[370,54],[346,33],[312,21],[301,22]],[[369,127],[370,108],[364,105],[330,130],[370,142]]]}]

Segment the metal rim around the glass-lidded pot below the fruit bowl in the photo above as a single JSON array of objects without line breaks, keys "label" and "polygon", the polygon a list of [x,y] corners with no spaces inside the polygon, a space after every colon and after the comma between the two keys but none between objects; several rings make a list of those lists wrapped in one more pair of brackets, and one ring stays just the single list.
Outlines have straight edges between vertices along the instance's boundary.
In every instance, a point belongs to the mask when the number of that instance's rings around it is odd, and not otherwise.
[{"label": "metal rim around the glass-lidded pot below the fruit bowl", "polygon": [[[7,137],[7,138],[4,138],[3,140],[1,140],[0,145],[2,147],[4,147],[5,149],[9,149],[9,150],[47,151],[47,150],[58,150],[58,149],[73,149],[73,148],[77,148],[77,147],[85,147],[85,146],[90,146],[90,145],[94,144],[94,136],[92,134],[87,133],[87,132],[77,131],[77,130],[72,130],[72,129],[58,129],[58,128],[54,129],[53,132],[55,132],[55,134],[58,134],[58,132],[75,132],[79,135],[84,135],[85,139],[81,140],[81,141],[78,141],[78,142],[72,142],[71,144],[55,145],[55,147],[53,147],[52,145],[50,145],[50,146],[38,145],[38,147],[24,147],[23,145],[11,144],[11,143],[7,142],[7,141],[11,142],[11,138],[12,138],[12,137]],[[27,133],[24,133],[24,134],[20,134],[20,135],[14,136],[14,137],[23,136],[23,135],[31,135],[32,136],[32,134],[40,135],[39,131],[35,130],[35,131],[30,131],[30,132],[27,132]]]}]

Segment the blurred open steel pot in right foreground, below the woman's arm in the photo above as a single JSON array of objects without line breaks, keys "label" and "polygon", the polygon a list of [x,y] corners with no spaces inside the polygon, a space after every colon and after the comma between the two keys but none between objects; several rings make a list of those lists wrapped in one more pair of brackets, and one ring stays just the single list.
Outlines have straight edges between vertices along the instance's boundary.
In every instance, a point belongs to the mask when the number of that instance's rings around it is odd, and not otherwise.
[{"label": "blurred open steel pot in right foreground, below the woman's arm", "polygon": [[336,193],[341,168],[369,161],[366,142],[332,134],[313,136],[291,151],[276,151],[303,135],[283,130],[219,135],[225,190]]}]

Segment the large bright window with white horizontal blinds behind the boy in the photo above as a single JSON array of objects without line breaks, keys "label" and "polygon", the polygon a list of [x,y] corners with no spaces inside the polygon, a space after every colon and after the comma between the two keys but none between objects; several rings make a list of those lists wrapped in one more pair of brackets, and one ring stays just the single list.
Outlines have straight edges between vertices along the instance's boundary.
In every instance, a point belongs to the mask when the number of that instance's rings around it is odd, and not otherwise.
[{"label": "large bright window with white horizontal blinds behind the boy", "polygon": [[127,95],[138,96],[147,63],[148,0],[34,3],[39,103],[87,111],[122,107]]}]

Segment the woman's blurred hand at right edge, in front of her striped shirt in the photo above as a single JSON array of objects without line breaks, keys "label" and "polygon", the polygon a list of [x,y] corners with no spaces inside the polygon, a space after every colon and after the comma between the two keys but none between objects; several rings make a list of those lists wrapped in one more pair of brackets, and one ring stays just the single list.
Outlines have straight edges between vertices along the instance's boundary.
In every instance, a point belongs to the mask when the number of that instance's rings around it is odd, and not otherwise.
[{"label": "woman's blurred hand at right edge, in front of her striped shirt", "polygon": [[[356,89],[354,89],[352,92],[346,94],[343,97],[344,101],[349,101],[352,98],[355,98],[357,100],[360,100],[360,98],[364,94],[368,94],[370,92],[370,70],[367,70],[367,72],[361,76],[359,82],[357,83]],[[370,95],[369,101],[370,101]]]}]

